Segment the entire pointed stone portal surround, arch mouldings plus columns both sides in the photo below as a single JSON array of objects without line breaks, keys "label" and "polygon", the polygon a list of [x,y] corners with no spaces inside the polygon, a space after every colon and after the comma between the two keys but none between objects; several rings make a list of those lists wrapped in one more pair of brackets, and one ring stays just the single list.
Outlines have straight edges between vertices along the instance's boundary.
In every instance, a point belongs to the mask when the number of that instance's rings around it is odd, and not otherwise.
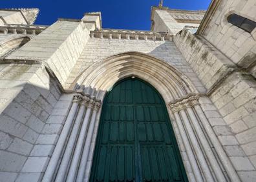
[{"label": "entire pointed stone portal surround, arch mouldings plus columns both sides", "polygon": [[[69,179],[74,179],[74,171],[78,168],[78,181],[88,181],[100,122],[101,101],[116,82],[132,76],[155,87],[168,106],[171,124],[190,181],[240,181],[209,124],[208,116],[200,106],[200,99],[211,105],[208,97],[198,93],[191,81],[172,66],[139,52],[108,57],[87,68],[74,81],[72,86],[77,84],[80,88],[74,95],[43,181],[52,181],[54,174],[62,179],[67,172]],[[81,132],[78,127],[70,127],[73,121],[81,123],[82,120]],[[74,141],[76,137],[69,137],[70,130],[74,136],[78,134],[78,144]],[[65,150],[64,154],[61,152],[67,140],[67,148],[74,148],[76,157],[72,157],[72,150]],[[69,168],[70,157],[74,159]],[[61,165],[58,167],[60,158]]]}]

